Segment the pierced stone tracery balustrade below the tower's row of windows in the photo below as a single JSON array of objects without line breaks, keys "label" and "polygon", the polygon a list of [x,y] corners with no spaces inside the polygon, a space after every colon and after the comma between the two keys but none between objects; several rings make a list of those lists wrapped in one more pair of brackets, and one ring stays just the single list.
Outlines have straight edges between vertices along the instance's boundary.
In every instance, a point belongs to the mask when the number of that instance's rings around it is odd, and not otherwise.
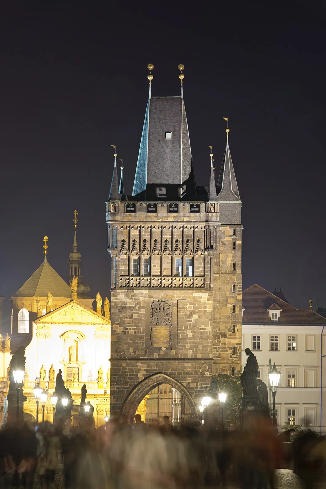
[{"label": "pierced stone tracery balustrade below the tower's row of windows", "polygon": [[205,286],[204,277],[126,277],[119,279],[119,287],[177,287],[177,288],[203,288]]}]

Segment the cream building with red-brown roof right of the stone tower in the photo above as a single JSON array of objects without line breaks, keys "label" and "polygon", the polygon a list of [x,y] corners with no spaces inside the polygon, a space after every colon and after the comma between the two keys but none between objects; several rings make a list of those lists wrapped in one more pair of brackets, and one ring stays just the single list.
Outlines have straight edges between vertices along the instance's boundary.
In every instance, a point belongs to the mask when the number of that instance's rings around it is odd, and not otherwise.
[{"label": "cream building with red-brown roof right of the stone tower", "polygon": [[319,432],[322,424],[326,432],[326,389],[321,387],[321,378],[326,378],[324,325],[324,317],[294,308],[281,290],[272,294],[253,285],[243,292],[242,363],[247,358],[245,348],[250,348],[257,357],[258,376],[267,387],[269,359],[281,372],[278,425],[302,424]]}]

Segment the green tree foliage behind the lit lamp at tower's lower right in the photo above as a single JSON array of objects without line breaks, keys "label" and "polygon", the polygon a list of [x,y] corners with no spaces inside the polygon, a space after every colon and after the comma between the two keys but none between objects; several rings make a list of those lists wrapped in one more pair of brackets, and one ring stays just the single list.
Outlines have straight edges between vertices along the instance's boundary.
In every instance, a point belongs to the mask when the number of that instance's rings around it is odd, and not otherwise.
[{"label": "green tree foliage behind the lit lamp at tower's lower right", "polygon": [[218,374],[212,377],[212,382],[208,388],[207,394],[216,401],[213,406],[215,405],[220,411],[219,392],[226,393],[226,401],[224,405],[225,425],[228,426],[232,423],[235,427],[240,426],[242,403],[242,385],[240,377],[234,377],[227,374]]}]

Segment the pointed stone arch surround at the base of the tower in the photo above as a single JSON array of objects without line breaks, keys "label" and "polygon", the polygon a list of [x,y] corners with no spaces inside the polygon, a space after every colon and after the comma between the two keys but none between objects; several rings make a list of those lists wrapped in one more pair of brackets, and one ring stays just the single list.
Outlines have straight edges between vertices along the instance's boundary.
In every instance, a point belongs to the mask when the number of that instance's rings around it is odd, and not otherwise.
[{"label": "pointed stone arch surround at the base of the tower", "polygon": [[194,418],[198,417],[196,404],[184,385],[178,382],[178,380],[175,380],[174,378],[163,374],[163,372],[158,372],[156,374],[150,375],[149,377],[144,378],[137,385],[135,385],[135,387],[129,392],[129,394],[123,401],[121,414],[129,416],[130,422],[133,423],[137,407],[139,406],[143,398],[147,396],[150,391],[155,389],[155,387],[158,387],[161,384],[169,384],[174,389],[177,389],[183,396],[183,399],[187,401],[192,416]]}]

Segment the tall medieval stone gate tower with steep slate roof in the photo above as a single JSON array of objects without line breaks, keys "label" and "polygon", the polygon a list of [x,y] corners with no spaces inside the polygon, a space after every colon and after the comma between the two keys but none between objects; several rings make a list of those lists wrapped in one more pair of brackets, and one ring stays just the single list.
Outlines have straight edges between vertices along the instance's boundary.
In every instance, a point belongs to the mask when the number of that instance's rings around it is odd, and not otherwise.
[{"label": "tall medieval stone gate tower with steep slate roof", "polygon": [[[110,408],[131,421],[142,398],[159,384],[179,393],[181,416],[196,417],[211,376],[241,369],[242,204],[228,129],[217,182],[210,141],[204,140],[207,153],[198,167],[208,185],[196,185],[183,73],[180,96],[152,96],[153,77],[148,78],[133,194],[121,193],[115,152],[106,203]],[[216,153],[222,159],[222,151],[215,151],[215,160]]]}]

